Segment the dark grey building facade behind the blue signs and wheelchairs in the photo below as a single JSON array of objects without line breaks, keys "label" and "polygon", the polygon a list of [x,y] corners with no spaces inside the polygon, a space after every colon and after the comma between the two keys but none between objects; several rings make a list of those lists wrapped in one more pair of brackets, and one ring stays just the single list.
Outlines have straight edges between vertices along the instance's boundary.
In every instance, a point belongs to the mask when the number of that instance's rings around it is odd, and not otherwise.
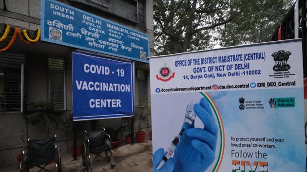
[{"label": "dark grey building facade behind the blue signs and wheelchairs", "polygon": [[[153,55],[153,0],[58,0],[98,17],[124,25],[149,35],[150,55]],[[40,0],[0,0],[0,23],[35,31],[40,28]],[[63,112],[63,121],[72,114],[72,51],[75,48],[38,41],[25,44],[16,38],[10,49],[0,52],[0,166],[16,163],[27,138],[45,138],[43,122],[32,124],[24,119],[28,104],[56,103]],[[82,51],[82,50],[81,50]],[[96,53],[113,58],[111,55]],[[135,106],[150,104],[149,64],[135,61]],[[147,108],[147,107],[146,107]],[[142,126],[151,130],[151,118]],[[91,129],[90,121],[85,128]],[[116,128],[125,125],[121,119],[97,120],[98,128]],[[136,128],[136,127],[135,127]],[[58,134],[62,154],[70,153],[73,134],[66,129],[52,128],[50,135]],[[127,130],[118,137],[124,140]],[[148,134],[146,134],[148,137]],[[79,138],[82,135],[79,135]]]}]

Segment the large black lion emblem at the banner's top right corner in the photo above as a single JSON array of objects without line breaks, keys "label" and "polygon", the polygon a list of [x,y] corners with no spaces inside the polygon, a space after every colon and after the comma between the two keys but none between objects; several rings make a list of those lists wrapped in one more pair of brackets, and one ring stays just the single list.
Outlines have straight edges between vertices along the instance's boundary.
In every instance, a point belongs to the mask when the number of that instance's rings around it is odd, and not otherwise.
[{"label": "large black lion emblem at the banner's top right corner", "polygon": [[289,56],[291,52],[285,52],[284,50],[272,53],[272,57],[275,61],[275,66],[273,67],[274,71],[288,71],[290,65],[288,64]]}]

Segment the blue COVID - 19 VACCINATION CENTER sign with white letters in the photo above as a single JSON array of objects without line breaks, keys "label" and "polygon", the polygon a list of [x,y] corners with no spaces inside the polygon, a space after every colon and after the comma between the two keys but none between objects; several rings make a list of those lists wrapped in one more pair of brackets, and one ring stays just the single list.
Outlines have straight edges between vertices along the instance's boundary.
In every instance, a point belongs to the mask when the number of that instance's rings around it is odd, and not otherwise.
[{"label": "blue COVID - 19 VACCINATION CENTER sign with white letters", "polygon": [[134,63],[73,52],[73,120],[134,114]]}]

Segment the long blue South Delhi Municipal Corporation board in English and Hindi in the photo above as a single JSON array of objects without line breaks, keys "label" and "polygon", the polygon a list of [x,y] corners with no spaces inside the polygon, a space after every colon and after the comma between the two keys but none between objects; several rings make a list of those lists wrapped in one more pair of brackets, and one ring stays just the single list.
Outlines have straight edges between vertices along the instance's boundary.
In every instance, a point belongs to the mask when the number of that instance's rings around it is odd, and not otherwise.
[{"label": "long blue South Delhi Municipal Corporation board in English and Hindi", "polygon": [[41,0],[41,37],[55,44],[149,63],[149,36],[56,0]]}]

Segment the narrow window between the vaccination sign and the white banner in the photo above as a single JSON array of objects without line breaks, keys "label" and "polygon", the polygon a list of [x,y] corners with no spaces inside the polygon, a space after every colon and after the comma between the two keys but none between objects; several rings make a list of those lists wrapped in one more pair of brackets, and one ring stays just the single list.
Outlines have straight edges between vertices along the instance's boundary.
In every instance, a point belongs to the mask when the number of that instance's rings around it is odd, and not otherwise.
[{"label": "narrow window between the vaccination sign and the white banner", "polygon": [[137,92],[138,104],[146,102],[146,72],[144,70],[137,70]]}]

